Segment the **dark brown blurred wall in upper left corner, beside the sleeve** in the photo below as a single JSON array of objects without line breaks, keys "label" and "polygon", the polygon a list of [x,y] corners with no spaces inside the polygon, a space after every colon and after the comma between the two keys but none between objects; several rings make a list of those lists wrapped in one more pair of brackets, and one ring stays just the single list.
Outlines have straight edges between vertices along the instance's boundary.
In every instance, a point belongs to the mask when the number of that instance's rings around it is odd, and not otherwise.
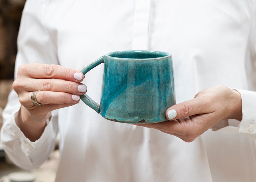
[{"label": "dark brown blurred wall in upper left corner, beside the sleeve", "polygon": [[25,0],[0,0],[0,80],[13,79],[24,4]]}]

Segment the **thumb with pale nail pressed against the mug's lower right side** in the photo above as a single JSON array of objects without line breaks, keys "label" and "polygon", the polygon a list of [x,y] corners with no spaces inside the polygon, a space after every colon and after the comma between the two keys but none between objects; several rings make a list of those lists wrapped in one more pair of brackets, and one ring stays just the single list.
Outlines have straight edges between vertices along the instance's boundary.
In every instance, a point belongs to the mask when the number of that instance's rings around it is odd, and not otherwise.
[{"label": "thumb with pale nail pressed against the mug's lower right side", "polygon": [[208,107],[206,103],[200,98],[194,98],[172,107],[168,108],[165,112],[165,117],[168,120],[174,120],[182,117],[193,116],[196,114],[207,113]]}]

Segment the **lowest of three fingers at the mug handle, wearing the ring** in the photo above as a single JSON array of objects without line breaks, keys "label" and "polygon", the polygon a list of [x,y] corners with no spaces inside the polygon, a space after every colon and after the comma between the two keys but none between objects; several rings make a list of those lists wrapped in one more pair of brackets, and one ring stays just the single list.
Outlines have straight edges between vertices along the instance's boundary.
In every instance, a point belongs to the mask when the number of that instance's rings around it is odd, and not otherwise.
[{"label": "lowest of three fingers at the mug handle, wearing the ring", "polygon": [[[20,103],[26,108],[34,106],[30,99],[31,94],[32,92],[27,92],[19,98]],[[80,96],[66,92],[39,91],[35,95],[35,100],[40,104],[76,104]]]}]

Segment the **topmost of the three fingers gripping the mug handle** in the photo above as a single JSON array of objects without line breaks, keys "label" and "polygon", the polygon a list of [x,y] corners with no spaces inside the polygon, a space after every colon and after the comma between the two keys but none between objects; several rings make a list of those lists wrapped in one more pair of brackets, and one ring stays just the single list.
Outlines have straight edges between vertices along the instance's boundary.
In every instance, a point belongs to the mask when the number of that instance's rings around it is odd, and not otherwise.
[{"label": "topmost of the three fingers gripping the mug handle", "polygon": [[78,72],[77,70],[65,68],[60,65],[37,63],[29,63],[20,66],[18,75],[29,78],[56,78],[73,82],[81,82],[84,79],[82,72]]}]

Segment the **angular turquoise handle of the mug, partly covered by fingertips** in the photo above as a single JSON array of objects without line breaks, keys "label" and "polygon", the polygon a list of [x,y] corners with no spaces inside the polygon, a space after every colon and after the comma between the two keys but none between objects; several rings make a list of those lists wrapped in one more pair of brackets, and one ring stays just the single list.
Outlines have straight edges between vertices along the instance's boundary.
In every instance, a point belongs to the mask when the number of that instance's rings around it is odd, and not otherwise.
[{"label": "angular turquoise handle of the mug, partly covered by fingertips", "polygon": [[[93,69],[94,67],[104,63],[104,56],[100,57],[90,65],[87,65],[81,72],[85,75],[88,71]],[[80,95],[80,99],[90,108],[94,109],[97,113],[100,113],[100,105],[92,100],[87,94]]]}]

